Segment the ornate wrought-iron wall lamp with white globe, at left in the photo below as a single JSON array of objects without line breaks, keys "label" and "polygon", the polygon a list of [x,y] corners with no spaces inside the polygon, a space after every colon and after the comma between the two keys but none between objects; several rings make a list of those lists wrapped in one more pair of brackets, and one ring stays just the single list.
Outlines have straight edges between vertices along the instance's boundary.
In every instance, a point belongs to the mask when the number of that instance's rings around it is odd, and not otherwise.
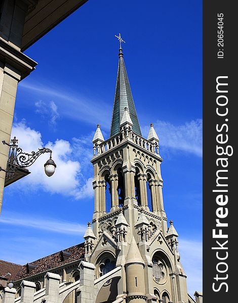
[{"label": "ornate wrought-iron wall lamp with white globe, at left", "polygon": [[39,148],[38,151],[31,151],[31,154],[28,154],[23,153],[22,148],[18,147],[18,139],[16,137],[11,140],[11,144],[8,144],[6,141],[2,142],[9,146],[7,168],[5,170],[0,167],[0,171],[6,172],[6,179],[12,179],[16,170],[31,166],[40,155],[45,153],[50,153],[50,159],[44,165],[45,173],[48,177],[54,174],[56,164],[52,160],[52,150],[50,148]]}]

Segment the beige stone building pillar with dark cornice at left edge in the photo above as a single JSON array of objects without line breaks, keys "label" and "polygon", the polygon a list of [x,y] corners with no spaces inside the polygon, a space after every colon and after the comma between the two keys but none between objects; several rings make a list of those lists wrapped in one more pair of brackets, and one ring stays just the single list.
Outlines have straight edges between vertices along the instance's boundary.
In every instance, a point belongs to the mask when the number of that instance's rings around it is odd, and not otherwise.
[{"label": "beige stone building pillar with dark cornice at left edge", "polygon": [[[0,19],[0,167],[3,169],[7,166],[8,146],[2,141],[10,143],[17,84],[37,65],[20,50],[28,4],[25,1],[3,1]],[[0,171],[0,212],[4,184],[5,172]]]}]

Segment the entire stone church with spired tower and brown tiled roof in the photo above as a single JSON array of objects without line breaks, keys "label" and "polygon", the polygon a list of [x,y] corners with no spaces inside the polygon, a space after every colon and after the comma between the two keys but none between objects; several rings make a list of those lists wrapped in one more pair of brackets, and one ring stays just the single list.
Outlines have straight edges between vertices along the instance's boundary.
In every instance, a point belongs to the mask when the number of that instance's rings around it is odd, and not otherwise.
[{"label": "entire stone church with spired tower and brown tiled roof", "polygon": [[94,213],[85,242],[24,266],[0,261],[3,303],[202,303],[202,293],[187,293],[178,233],[164,208],[159,139],[153,124],[147,139],[141,134],[117,38],[110,135],[105,140],[97,125],[92,140]]}]

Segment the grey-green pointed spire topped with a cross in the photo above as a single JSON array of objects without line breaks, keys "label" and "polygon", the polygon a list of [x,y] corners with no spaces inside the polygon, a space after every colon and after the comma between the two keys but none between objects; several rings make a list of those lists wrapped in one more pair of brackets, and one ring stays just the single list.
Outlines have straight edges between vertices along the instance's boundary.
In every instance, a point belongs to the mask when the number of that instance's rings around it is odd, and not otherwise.
[{"label": "grey-green pointed spire topped with a cross", "polygon": [[131,92],[129,79],[127,76],[124,58],[123,58],[122,42],[125,43],[125,41],[121,38],[121,34],[115,37],[120,42],[120,48],[118,54],[119,62],[118,62],[118,70],[117,70],[117,78],[116,78],[114,105],[113,105],[113,112],[111,119],[110,137],[114,136],[120,131],[120,124],[124,115],[125,107],[128,108],[133,123],[133,131],[138,135],[141,135],[140,125],[136,114],[136,108]]}]

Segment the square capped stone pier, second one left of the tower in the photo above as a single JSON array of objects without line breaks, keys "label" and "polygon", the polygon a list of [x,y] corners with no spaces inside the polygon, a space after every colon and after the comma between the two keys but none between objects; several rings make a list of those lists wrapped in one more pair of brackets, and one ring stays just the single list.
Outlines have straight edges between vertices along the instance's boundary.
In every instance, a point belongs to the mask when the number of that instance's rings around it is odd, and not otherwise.
[{"label": "square capped stone pier, second one left of the tower", "polygon": [[60,275],[46,274],[46,303],[58,303]]}]

